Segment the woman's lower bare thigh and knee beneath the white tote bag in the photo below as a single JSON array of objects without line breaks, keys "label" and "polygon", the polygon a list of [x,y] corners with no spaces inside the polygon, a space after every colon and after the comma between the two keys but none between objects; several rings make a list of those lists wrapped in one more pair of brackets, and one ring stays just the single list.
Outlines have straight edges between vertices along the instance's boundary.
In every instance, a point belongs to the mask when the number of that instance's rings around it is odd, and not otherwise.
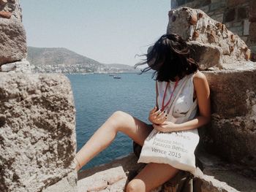
[{"label": "woman's lower bare thigh and knee beneath the white tote bag", "polygon": [[147,164],[140,173],[127,184],[127,192],[146,192],[157,188],[173,178],[179,169],[169,164]]}]

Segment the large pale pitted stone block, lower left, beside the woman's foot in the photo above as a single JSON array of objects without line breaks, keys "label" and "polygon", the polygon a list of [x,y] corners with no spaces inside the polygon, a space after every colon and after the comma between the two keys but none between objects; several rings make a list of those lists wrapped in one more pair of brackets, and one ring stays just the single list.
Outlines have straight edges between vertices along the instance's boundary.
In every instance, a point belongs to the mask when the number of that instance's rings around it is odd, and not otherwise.
[{"label": "large pale pitted stone block, lower left, beside the woman's foot", "polygon": [[[73,172],[75,105],[67,77],[1,72],[0,103],[0,191],[42,191]],[[67,178],[74,183],[76,174]]]}]

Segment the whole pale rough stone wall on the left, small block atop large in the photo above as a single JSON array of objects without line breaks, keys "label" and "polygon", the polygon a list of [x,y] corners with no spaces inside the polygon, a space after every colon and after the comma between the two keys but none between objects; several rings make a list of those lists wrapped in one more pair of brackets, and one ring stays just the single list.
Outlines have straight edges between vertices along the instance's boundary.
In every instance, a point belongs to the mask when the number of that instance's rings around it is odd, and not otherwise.
[{"label": "whole pale rough stone wall on the left, small block atop large", "polygon": [[75,104],[64,74],[31,74],[19,0],[0,0],[0,191],[77,191]]}]

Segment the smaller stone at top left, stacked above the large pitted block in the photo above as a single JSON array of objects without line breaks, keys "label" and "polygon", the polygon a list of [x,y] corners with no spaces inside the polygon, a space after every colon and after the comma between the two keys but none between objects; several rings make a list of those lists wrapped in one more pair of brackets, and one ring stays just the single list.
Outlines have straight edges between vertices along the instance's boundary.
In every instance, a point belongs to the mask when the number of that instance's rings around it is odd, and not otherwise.
[{"label": "smaller stone at top left, stacked above the large pitted block", "polygon": [[1,1],[0,5],[0,66],[26,58],[26,32],[21,23],[18,0]]}]

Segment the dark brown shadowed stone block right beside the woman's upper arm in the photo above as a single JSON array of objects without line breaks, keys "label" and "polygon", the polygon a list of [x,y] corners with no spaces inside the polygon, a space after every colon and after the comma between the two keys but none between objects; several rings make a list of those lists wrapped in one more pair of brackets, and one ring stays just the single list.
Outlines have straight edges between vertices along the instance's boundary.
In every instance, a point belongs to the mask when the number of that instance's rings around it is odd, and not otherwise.
[{"label": "dark brown shadowed stone block right beside the woman's upper arm", "polygon": [[233,69],[204,72],[211,88],[211,112],[222,118],[247,115],[252,110],[248,102],[253,96],[249,93],[256,93],[255,72],[256,64],[252,62]]}]

